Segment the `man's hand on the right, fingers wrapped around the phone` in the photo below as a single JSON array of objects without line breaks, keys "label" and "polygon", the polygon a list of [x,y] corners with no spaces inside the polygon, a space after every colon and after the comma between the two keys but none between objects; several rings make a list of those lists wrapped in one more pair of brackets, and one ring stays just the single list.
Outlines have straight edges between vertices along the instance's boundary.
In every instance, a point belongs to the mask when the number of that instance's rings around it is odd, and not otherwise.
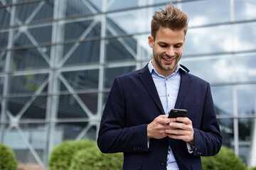
[{"label": "man's hand on the right, fingers wrapped around the phone", "polygon": [[[176,121],[181,123],[177,123]],[[189,118],[171,118],[169,126],[171,129],[166,129],[166,133],[169,137],[195,145],[193,125]]]}]

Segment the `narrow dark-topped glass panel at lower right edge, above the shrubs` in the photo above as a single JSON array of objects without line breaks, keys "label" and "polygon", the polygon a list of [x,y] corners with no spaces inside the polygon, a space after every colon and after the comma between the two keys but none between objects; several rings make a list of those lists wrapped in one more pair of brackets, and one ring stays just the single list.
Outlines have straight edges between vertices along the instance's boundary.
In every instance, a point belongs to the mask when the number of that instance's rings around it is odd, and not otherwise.
[{"label": "narrow dark-topped glass panel at lower right edge, above the shrubs", "polygon": [[238,120],[239,156],[242,162],[248,162],[250,159],[253,142],[252,137],[256,135],[255,123],[255,118],[241,118]]}]

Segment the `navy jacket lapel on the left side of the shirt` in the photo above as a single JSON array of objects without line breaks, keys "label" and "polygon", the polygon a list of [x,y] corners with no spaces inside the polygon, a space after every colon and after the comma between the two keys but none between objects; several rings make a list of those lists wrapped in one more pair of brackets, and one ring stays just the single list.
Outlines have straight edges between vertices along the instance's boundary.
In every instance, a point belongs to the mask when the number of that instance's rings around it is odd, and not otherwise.
[{"label": "navy jacket lapel on the left side of the shirt", "polygon": [[146,91],[148,91],[149,95],[151,96],[152,100],[156,103],[156,106],[159,107],[162,114],[164,114],[164,108],[161,105],[161,101],[159,98],[159,94],[156,90],[156,86],[154,81],[151,77],[151,73],[149,72],[149,67],[146,66],[139,71],[139,79],[141,79],[142,84],[144,84]]}]

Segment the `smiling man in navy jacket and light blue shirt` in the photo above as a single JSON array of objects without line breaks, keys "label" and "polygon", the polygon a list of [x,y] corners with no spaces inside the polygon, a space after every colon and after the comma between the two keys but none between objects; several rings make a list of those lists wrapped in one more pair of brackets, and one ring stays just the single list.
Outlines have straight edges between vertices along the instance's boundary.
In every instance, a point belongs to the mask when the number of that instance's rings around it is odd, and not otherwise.
[{"label": "smiling man in navy jacket and light blue shirt", "polygon": [[[114,79],[97,144],[105,153],[124,152],[123,169],[202,169],[201,156],[220,150],[222,137],[210,85],[178,64],[188,18],[169,4],[154,13],[143,69]],[[167,118],[171,108],[186,118]]]}]

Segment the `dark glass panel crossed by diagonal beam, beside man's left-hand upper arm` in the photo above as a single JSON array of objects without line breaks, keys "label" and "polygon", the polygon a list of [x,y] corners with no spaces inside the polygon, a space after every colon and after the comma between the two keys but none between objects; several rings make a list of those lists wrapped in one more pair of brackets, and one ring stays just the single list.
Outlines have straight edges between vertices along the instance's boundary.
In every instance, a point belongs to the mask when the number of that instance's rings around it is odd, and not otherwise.
[{"label": "dark glass panel crossed by diagonal beam, beside man's left-hand upper arm", "polygon": [[97,94],[68,94],[57,97],[58,118],[88,118],[97,110]]}]

